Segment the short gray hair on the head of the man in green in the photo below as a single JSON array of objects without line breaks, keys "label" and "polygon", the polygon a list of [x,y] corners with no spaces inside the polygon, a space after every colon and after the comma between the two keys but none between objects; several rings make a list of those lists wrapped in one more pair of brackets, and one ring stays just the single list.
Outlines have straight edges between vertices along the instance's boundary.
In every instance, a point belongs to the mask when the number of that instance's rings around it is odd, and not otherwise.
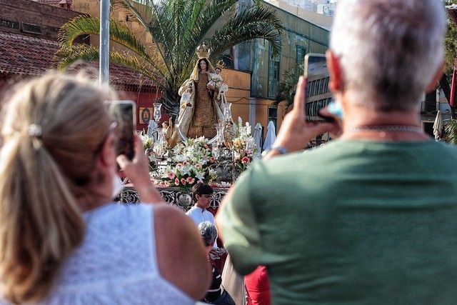
[{"label": "short gray hair on the head of the man in green", "polygon": [[440,0],[340,0],[330,47],[361,106],[411,111],[444,59]]}]

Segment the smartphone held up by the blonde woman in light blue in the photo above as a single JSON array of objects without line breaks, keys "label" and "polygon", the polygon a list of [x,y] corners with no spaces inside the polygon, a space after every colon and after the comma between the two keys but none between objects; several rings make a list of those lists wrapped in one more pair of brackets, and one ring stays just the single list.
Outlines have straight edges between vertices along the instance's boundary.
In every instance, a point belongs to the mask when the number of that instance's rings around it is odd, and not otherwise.
[{"label": "smartphone held up by the blonde woman in light blue", "polygon": [[136,106],[134,101],[106,101],[108,113],[118,124],[116,133],[116,154],[125,154],[134,159],[134,132],[136,129]]}]

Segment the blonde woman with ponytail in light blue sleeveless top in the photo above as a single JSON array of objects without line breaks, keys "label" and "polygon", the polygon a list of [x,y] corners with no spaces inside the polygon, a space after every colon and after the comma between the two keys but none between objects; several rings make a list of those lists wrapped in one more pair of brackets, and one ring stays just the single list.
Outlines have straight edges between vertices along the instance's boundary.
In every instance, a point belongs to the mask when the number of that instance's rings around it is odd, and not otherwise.
[{"label": "blonde woman with ponytail in light blue sleeveless top", "polygon": [[[142,144],[114,153],[107,94],[47,75],[4,103],[0,304],[194,304],[211,282],[195,225],[161,203]],[[144,202],[112,203],[116,164]]]}]

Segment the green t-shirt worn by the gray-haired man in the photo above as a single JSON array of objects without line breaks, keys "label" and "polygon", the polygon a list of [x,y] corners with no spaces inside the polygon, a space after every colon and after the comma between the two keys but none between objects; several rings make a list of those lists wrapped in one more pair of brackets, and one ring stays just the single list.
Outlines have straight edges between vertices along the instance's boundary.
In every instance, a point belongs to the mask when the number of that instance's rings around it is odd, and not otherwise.
[{"label": "green t-shirt worn by the gray-haired man", "polygon": [[457,304],[457,148],[333,141],[257,161],[221,209],[273,304]]}]

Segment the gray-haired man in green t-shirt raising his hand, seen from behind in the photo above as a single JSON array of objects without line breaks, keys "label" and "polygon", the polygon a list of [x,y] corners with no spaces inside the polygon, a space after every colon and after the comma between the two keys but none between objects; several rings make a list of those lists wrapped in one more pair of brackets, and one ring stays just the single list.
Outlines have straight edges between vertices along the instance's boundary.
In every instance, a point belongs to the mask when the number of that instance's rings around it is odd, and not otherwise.
[{"label": "gray-haired man in green t-shirt raising his hand, seen from behind", "polygon": [[[267,267],[273,304],[456,303],[457,148],[418,115],[445,28],[443,1],[338,1],[326,54],[336,104],[323,111],[335,121],[306,121],[301,78],[267,160],[216,215],[235,269]],[[292,153],[324,131],[340,138]]]}]

